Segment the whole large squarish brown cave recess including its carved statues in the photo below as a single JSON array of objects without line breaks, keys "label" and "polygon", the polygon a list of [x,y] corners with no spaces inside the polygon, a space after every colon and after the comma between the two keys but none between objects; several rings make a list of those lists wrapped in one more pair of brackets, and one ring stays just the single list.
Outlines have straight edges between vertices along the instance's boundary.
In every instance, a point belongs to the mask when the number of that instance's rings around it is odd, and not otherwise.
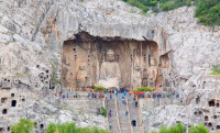
[{"label": "whole large squarish brown cave recess including its carved statues", "polygon": [[154,41],[100,37],[81,31],[63,44],[61,82],[66,88],[158,88],[168,60]]}]

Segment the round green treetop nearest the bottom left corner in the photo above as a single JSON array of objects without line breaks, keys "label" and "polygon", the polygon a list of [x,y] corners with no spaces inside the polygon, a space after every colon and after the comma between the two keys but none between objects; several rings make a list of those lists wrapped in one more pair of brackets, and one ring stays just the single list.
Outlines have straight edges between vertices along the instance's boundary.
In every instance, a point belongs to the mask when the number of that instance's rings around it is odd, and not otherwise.
[{"label": "round green treetop nearest the bottom left corner", "polygon": [[33,128],[34,128],[34,122],[26,119],[20,119],[19,123],[14,124],[11,128],[11,131],[13,133],[31,133],[33,131]]}]

